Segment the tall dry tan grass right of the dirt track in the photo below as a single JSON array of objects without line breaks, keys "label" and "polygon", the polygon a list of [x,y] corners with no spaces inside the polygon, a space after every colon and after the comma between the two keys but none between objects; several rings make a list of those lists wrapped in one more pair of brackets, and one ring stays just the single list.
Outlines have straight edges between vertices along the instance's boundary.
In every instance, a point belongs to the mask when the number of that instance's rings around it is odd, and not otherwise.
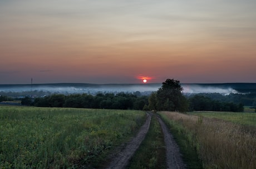
[{"label": "tall dry tan grass right of the dirt track", "polygon": [[243,125],[201,114],[160,114],[174,126],[181,125],[188,131],[183,134],[191,138],[188,140],[195,147],[204,168],[256,168],[256,133],[248,132]]}]

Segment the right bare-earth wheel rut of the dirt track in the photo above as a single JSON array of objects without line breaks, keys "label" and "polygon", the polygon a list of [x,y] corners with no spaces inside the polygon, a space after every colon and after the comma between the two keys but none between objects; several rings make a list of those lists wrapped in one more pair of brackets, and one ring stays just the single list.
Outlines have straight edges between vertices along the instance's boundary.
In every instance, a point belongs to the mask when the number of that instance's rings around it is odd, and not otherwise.
[{"label": "right bare-earth wheel rut of the dirt track", "polygon": [[164,140],[166,146],[166,163],[167,168],[170,169],[185,169],[186,166],[181,158],[179,146],[176,144],[173,135],[170,134],[168,128],[164,124],[163,120],[157,115],[157,119],[161,125],[164,133]]}]

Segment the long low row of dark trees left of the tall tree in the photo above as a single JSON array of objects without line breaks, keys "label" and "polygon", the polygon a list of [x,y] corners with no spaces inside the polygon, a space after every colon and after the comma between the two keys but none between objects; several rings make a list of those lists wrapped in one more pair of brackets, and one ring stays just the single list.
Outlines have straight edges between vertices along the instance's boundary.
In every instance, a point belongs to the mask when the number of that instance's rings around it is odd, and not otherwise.
[{"label": "long low row of dark trees left of the tall tree", "polygon": [[26,97],[22,99],[22,104],[38,107],[147,110],[146,105],[148,105],[148,97],[126,93],[99,93],[95,96],[90,94],[53,94],[51,96],[45,96],[44,98],[36,98],[33,101]]}]

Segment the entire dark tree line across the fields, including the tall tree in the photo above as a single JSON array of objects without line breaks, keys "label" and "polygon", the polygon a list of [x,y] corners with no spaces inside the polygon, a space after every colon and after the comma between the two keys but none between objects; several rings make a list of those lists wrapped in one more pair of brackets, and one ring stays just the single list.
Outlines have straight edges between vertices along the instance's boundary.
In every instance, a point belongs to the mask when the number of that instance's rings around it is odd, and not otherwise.
[{"label": "entire dark tree line across the fields, including the tall tree", "polygon": [[[131,93],[91,94],[53,94],[44,98],[22,99],[22,105],[40,107],[77,107],[92,109],[132,109],[154,111],[233,111],[242,112],[243,104],[231,101],[212,99],[197,94],[184,96],[179,80],[166,79],[161,88],[150,96],[139,96]],[[220,97],[220,95],[218,95]],[[224,96],[221,96],[224,97]],[[221,98],[220,97],[220,98]]]}]

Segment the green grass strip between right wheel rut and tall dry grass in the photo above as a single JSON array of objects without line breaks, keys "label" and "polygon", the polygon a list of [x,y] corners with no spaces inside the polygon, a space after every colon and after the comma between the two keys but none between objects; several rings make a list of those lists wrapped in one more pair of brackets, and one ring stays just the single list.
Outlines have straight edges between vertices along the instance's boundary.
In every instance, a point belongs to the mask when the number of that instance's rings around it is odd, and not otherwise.
[{"label": "green grass strip between right wheel rut and tall dry grass", "polygon": [[183,160],[189,169],[203,168],[202,162],[198,156],[199,144],[193,133],[183,126],[183,119],[175,121],[171,118],[171,112],[157,112],[165,124],[169,127],[176,143],[179,145]]}]

